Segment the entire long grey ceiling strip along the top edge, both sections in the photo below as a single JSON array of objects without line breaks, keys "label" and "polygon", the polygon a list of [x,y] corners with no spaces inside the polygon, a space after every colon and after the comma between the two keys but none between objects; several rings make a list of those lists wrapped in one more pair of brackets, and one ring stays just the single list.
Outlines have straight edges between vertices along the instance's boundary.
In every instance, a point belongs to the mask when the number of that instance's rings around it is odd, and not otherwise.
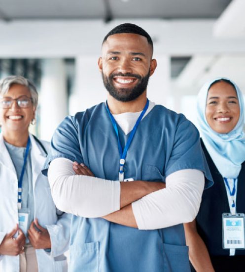
[{"label": "entire long grey ceiling strip along the top edge, both sections", "polygon": [[[2,19],[217,18],[231,0],[1,0]],[[108,14],[109,13],[109,14]]]}]

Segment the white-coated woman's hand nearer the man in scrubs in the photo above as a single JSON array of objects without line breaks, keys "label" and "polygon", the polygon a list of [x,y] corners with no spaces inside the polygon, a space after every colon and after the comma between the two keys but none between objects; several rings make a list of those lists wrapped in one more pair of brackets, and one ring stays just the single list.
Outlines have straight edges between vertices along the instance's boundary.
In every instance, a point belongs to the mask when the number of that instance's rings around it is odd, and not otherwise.
[{"label": "white-coated woman's hand nearer the man in scrubs", "polygon": [[[39,229],[37,230],[35,226]],[[51,240],[46,228],[41,227],[35,219],[28,229],[28,238],[35,249],[51,248]]]}]

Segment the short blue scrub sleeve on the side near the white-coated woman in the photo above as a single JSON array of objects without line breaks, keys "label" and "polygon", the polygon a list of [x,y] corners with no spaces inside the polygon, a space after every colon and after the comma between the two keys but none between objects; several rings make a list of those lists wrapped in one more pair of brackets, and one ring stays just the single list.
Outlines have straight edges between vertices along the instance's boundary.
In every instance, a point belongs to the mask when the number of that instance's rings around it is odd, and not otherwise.
[{"label": "short blue scrub sleeve on the side near the white-coated woman", "polygon": [[42,170],[43,175],[47,176],[49,164],[56,158],[83,162],[78,141],[78,126],[74,116],[67,116],[55,130],[51,140],[51,149]]}]

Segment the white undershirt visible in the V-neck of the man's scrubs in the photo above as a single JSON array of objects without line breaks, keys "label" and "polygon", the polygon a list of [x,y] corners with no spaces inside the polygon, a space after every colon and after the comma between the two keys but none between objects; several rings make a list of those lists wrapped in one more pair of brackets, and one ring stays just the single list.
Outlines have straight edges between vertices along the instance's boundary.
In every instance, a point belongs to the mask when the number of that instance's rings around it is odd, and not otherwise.
[{"label": "white undershirt visible in the V-neck of the man's scrubs", "polygon": [[[155,103],[149,101],[148,109],[145,112],[143,118],[154,108],[154,106],[155,106]],[[113,114],[113,117],[115,118],[117,124],[123,130],[125,135],[128,135],[133,130],[135,123],[136,123],[137,119],[139,118],[141,112],[142,111],[124,112],[124,113],[120,113],[120,114]]]}]

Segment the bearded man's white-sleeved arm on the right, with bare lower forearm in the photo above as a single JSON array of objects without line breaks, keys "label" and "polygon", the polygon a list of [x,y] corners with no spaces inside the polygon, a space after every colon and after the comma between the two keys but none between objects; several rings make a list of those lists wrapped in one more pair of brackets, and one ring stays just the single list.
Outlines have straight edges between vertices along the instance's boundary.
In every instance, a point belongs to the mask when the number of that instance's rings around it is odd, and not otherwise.
[{"label": "bearded man's white-sleeved arm on the right, with bare lower forearm", "polygon": [[[195,217],[201,201],[203,173],[198,170],[181,170],[167,177],[166,182],[169,189],[153,191],[104,218],[128,227],[157,229],[177,225]],[[146,183],[146,186],[150,186],[154,182]]]}]

